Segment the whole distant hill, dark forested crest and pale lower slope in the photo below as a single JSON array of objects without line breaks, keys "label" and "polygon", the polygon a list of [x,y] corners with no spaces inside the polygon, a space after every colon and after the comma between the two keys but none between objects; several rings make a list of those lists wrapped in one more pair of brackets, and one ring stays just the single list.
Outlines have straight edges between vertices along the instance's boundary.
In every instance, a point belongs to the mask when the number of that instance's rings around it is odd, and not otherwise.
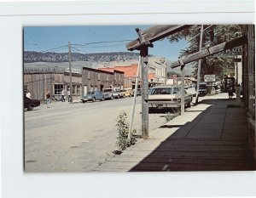
[{"label": "whole distant hill, dark forested crest and pale lower slope", "polygon": [[[94,53],[94,54],[72,54],[72,65],[74,68],[81,68],[83,66],[97,69],[99,67],[112,67],[117,65],[133,65],[138,62],[138,53],[131,52],[113,52],[113,53]],[[149,55],[148,65],[159,65],[161,57]],[[172,69],[170,66],[172,60],[166,59],[167,72],[181,73],[180,68]],[[24,66],[25,68],[36,68],[46,66],[68,67],[67,53],[40,53],[40,52],[24,52]],[[31,70],[31,69],[29,69]],[[35,69],[36,70],[36,69]],[[191,75],[195,69],[192,65],[185,66],[185,75]]]}]

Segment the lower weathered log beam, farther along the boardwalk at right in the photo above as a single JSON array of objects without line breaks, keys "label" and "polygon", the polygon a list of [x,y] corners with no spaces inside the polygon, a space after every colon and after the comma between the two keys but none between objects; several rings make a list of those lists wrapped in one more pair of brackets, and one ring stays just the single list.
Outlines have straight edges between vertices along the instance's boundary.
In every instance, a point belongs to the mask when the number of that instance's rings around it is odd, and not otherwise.
[{"label": "lower weathered log beam, farther along the boardwalk at right", "polygon": [[[187,57],[182,59],[182,62],[183,62],[183,64],[188,64],[197,59],[202,59],[209,55],[217,54],[219,52],[222,52],[222,51],[230,49],[230,48],[235,48],[235,47],[240,46],[246,42],[247,42],[247,36],[238,37],[234,40],[231,40],[230,42],[223,42],[221,44],[213,46],[212,48],[206,48],[206,49],[201,50],[200,52],[196,52],[194,54],[189,54]],[[172,68],[175,68],[178,66],[180,66],[179,60],[174,61],[171,64]]]}]

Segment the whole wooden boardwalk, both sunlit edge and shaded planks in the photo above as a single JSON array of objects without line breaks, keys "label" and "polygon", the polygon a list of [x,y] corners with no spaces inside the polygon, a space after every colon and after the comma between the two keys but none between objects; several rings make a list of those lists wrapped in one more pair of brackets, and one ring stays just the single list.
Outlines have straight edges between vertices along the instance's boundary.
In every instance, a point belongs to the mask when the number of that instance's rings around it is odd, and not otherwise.
[{"label": "whole wooden boardwalk, both sunlit edge and shaded planks", "polygon": [[[96,172],[255,170],[247,150],[247,117],[227,93],[202,97],[186,110],[139,139]],[[149,121],[150,122],[150,121]]]}]

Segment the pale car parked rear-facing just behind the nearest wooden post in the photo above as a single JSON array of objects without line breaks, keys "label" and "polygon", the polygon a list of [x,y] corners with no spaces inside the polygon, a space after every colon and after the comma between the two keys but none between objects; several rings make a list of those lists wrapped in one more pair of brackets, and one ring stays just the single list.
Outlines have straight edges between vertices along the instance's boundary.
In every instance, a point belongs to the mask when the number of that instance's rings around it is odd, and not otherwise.
[{"label": "pale car parked rear-facing just behind the nearest wooden post", "polygon": [[[188,107],[193,99],[193,95],[185,92],[185,105]],[[174,86],[154,87],[148,94],[148,108],[168,109],[181,107],[181,88]]]}]

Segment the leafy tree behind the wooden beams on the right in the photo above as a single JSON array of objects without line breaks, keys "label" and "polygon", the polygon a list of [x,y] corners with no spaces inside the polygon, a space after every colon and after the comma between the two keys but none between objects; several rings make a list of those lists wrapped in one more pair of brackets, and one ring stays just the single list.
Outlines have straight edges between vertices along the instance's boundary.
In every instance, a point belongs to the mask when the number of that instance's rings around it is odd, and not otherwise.
[{"label": "leafy tree behind the wooden beams on the right", "polygon": [[[183,31],[168,37],[170,42],[187,40],[189,47],[184,48],[179,58],[199,51],[201,25],[193,25]],[[228,42],[241,35],[241,25],[204,25],[202,48],[212,47],[222,42]],[[197,77],[198,61],[191,63],[194,66],[194,76]],[[207,57],[201,61],[201,77],[206,74],[215,74],[221,80],[225,75],[234,73],[235,57]]]}]

